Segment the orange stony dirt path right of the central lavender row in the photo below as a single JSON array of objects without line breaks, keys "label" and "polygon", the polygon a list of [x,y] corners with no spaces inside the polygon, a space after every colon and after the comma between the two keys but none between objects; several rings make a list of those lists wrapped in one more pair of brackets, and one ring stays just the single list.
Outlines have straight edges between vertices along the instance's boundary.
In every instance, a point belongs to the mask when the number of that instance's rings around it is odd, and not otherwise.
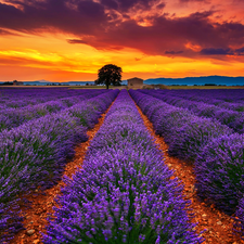
[{"label": "orange stony dirt path right of the central lavender row", "polygon": [[233,219],[216,209],[214,205],[206,205],[197,198],[194,188],[195,176],[193,172],[193,166],[168,155],[168,145],[162,137],[155,133],[153,124],[141,112],[140,107],[137,104],[136,106],[143,118],[145,127],[155,138],[157,147],[164,153],[166,165],[170,169],[175,170],[174,176],[184,184],[183,196],[185,200],[191,200],[192,213],[195,215],[192,221],[198,222],[195,229],[197,233],[206,230],[202,234],[205,239],[204,244],[243,244],[244,241],[232,233]]}]

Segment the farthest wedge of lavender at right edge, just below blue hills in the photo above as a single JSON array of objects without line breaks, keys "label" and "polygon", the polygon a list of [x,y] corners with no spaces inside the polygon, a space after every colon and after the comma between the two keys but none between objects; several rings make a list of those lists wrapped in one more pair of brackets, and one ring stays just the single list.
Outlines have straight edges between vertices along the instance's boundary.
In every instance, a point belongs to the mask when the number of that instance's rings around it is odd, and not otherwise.
[{"label": "farthest wedge of lavender at right edge, just below blue hills", "polygon": [[244,90],[160,90],[158,93],[244,112]]}]

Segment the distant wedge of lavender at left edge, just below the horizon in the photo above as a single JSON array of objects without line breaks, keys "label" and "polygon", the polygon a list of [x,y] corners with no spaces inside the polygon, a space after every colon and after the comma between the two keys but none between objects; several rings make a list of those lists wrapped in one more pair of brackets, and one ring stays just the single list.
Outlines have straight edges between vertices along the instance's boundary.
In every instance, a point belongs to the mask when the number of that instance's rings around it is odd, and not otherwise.
[{"label": "distant wedge of lavender at left edge, just below the horizon", "polygon": [[0,88],[0,111],[76,97],[84,92],[86,90],[67,88]]}]

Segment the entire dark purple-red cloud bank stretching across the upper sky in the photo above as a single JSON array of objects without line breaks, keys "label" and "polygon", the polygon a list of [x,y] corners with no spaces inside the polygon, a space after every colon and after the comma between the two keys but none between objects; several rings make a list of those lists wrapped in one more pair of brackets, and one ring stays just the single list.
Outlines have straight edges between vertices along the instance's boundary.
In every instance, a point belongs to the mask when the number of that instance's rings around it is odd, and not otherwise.
[{"label": "entire dark purple-red cloud bank stretching across the upper sky", "polygon": [[[201,1],[201,0],[195,0]],[[145,54],[230,55],[243,54],[244,25],[214,22],[214,11],[195,12],[184,17],[152,14],[151,8],[165,8],[160,0],[9,0],[0,3],[0,29],[42,34],[61,31],[74,35],[68,43],[87,43],[97,49],[134,48]],[[143,11],[141,26],[137,11]],[[131,12],[133,16],[130,16]],[[137,16],[137,21],[134,20]],[[4,33],[0,31],[0,35]],[[188,43],[202,51],[188,48]],[[231,50],[237,47],[240,51]],[[180,50],[180,51],[179,51]]]}]

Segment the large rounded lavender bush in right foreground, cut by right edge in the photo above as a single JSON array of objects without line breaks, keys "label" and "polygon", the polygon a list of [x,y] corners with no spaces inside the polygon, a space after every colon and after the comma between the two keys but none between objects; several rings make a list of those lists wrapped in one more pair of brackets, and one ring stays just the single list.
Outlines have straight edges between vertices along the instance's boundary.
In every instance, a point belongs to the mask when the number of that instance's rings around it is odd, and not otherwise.
[{"label": "large rounded lavender bush in right foreground, cut by right edge", "polygon": [[195,162],[198,194],[233,214],[244,193],[244,136],[209,142]]}]

